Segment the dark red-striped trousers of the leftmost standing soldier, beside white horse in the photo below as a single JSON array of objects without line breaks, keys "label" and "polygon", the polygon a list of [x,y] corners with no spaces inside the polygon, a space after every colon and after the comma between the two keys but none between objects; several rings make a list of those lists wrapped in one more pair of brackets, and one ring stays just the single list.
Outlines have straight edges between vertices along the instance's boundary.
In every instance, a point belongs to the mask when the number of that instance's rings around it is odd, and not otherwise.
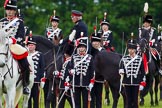
[{"label": "dark red-striped trousers of the leftmost standing soldier, beside white horse", "polygon": [[[28,108],[39,108],[39,94],[40,94],[39,86],[40,86],[39,83],[34,83],[31,89],[31,95],[28,101]],[[33,102],[32,102],[32,99],[33,99]]]}]

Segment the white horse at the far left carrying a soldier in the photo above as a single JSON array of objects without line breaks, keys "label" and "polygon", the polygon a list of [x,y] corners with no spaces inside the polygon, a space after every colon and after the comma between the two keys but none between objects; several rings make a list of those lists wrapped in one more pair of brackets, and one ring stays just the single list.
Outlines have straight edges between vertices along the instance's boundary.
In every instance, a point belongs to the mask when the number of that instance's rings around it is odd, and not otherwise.
[{"label": "white horse at the far left carrying a soldier", "polygon": [[[5,96],[6,108],[15,108],[22,96],[22,81],[19,81],[20,72],[17,61],[12,57],[9,49],[9,37],[4,34],[0,37],[0,108],[2,108],[2,98]],[[32,71],[34,63],[28,57]],[[34,73],[30,74],[30,87],[34,82]],[[29,96],[25,96],[23,108],[27,108]]]}]

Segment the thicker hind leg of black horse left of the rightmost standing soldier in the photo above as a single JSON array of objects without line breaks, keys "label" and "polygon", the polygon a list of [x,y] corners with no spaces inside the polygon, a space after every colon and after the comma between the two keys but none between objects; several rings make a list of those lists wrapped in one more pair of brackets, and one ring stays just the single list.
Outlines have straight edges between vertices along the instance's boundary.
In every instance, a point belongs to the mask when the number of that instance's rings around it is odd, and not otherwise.
[{"label": "thicker hind leg of black horse left of the rightmost standing soldier", "polygon": [[119,100],[119,86],[114,85],[114,82],[111,84],[109,83],[111,92],[112,92],[112,96],[113,96],[113,105],[112,108],[117,108],[117,104],[118,104],[118,100]]}]

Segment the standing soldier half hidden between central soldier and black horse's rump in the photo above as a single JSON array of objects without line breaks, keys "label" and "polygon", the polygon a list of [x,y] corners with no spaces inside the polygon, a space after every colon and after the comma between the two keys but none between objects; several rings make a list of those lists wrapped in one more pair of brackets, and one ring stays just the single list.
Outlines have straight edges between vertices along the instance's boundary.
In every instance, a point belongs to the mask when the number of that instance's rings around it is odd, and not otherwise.
[{"label": "standing soldier half hidden between central soldier and black horse's rump", "polygon": [[[91,38],[91,54],[94,58],[94,67],[96,67],[95,58],[100,53],[100,51],[105,50],[101,46],[101,34],[100,33],[93,33]],[[102,90],[103,90],[103,83],[104,78],[102,75],[99,74],[99,70],[95,69],[95,83],[94,87],[91,91],[91,108],[102,108]]]}]

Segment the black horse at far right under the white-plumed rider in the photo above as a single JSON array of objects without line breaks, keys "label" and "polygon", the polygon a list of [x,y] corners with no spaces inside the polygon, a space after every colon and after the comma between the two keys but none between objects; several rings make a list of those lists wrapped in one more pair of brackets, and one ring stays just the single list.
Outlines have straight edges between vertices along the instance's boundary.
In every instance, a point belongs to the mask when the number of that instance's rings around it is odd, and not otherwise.
[{"label": "black horse at far right under the white-plumed rider", "polygon": [[140,105],[144,105],[144,97],[147,95],[147,93],[150,93],[151,101],[150,104],[154,105],[154,99],[153,99],[153,82],[155,80],[154,84],[154,92],[155,92],[155,105],[158,105],[158,84],[160,81],[159,73],[158,73],[158,67],[156,64],[155,59],[151,55],[150,51],[151,48],[149,46],[149,42],[145,38],[141,38],[139,40],[139,46],[140,46],[140,52],[142,54],[147,54],[148,58],[148,74],[146,74],[146,87],[144,90],[140,92]]}]

